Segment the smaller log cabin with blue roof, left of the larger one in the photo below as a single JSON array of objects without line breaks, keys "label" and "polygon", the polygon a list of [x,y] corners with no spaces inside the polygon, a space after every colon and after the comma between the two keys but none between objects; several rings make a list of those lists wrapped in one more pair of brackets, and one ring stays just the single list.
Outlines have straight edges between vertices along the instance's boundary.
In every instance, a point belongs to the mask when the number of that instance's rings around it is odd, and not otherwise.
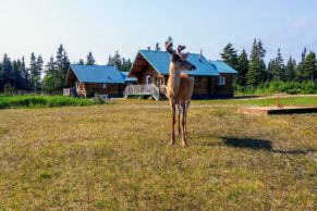
[{"label": "smaller log cabin with blue roof, left of the larger one", "polygon": [[66,83],[71,88],[64,89],[64,95],[122,97],[125,79],[133,84],[133,78],[124,75],[110,65],[70,65]]}]

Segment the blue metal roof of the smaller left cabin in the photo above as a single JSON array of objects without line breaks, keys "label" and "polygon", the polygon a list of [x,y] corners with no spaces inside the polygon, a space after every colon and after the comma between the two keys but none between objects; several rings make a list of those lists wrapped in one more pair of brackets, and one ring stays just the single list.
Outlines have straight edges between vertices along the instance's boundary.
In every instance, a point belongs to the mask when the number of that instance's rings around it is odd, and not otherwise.
[{"label": "blue metal roof of the smaller left cabin", "polygon": [[82,83],[124,84],[120,71],[114,66],[72,64],[70,70]]}]

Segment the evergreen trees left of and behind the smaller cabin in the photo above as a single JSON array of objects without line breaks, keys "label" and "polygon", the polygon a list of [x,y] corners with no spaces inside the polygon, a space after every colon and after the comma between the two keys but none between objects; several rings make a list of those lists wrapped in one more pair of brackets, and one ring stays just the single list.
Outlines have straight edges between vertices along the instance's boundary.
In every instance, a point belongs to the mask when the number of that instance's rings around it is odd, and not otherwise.
[{"label": "evergreen trees left of and behind the smaller cabin", "polygon": [[[4,54],[0,61],[0,91],[61,94],[62,89],[68,86],[65,79],[70,64],[62,45],[59,46],[56,57],[51,57],[46,65],[44,65],[40,54],[32,53],[28,66],[26,66],[24,58],[11,61],[8,54]],[[77,64],[95,65],[97,63],[93,52],[89,52],[86,61],[81,59]],[[121,57],[118,51],[113,57],[109,55],[107,64],[114,65],[120,71],[129,71],[132,66],[131,60]]]}]

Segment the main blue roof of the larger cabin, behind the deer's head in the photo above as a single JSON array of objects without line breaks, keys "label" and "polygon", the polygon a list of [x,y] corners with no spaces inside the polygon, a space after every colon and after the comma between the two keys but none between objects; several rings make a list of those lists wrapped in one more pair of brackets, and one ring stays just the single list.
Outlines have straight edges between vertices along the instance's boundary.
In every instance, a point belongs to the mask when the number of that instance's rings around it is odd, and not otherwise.
[{"label": "main blue roof of the larger cabin, behind the deer's head", "polygon": [[[153,67],[162,75],[169,74],[170,53],[166,51],[141,50],[139,53],[153,65]],[[209,63],[204,55],[191,53],[187,61],[194,64],[197,69],[188,71],[188,75],[196,76],[218,76],[216,67]]]}]

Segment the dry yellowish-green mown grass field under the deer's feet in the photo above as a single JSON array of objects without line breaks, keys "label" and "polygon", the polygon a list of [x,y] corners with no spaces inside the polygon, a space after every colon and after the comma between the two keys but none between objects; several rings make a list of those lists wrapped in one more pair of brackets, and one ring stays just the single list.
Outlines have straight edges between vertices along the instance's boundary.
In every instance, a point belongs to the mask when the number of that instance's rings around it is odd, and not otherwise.
[{"label": "dry yellowish-green mown grass field under the deer's feet", "polygon": [[1,110],[0,210],[316,210],[317,114],[269,100],[193,102],[186,148],[168,102]]}]

